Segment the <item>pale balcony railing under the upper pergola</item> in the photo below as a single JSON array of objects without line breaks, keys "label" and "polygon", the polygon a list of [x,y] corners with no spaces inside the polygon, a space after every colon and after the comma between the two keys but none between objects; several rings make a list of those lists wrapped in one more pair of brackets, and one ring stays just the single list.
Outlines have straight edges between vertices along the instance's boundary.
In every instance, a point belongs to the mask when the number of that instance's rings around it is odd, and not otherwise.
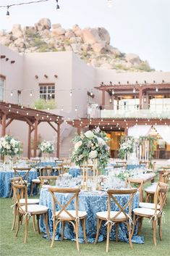
[{"label": "pale balcony railing under the upper pergola", "polygon": [[99,107],[88,107],[88,117],[91,118],[169,118],[170,104],[150,105],[150,109],[140,110],[137,105],[129,105],[127,107],[119,106],[119,109],[104,109]]}]

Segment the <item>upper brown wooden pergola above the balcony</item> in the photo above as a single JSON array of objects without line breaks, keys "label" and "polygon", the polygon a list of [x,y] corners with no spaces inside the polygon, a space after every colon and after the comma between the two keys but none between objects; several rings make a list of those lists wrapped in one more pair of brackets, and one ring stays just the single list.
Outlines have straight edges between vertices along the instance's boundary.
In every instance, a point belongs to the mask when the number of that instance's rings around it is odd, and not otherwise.
[{"label": "upper brown wooden pergola above the balcony", "polygon": [[162,83],[145,83],[141,84],[136,81],[135,84],[129,84],[127,81],[127,84],[112,84],[111,82],[109,84],[101,83],[101,86],[95,87],[95,89],[102,92],[102,99],[101,99],[101,106],[102,109],[105,107],[105,93],[109,93],[109,95],[113,95],[112,92],[114,91],[114,97],[117,96],[138,96],[140,100],[139,107],[142,109],[143,106],[143,96],[146,94],[149,95],[170,95],[170,83],[165,83],[162,81]]}]

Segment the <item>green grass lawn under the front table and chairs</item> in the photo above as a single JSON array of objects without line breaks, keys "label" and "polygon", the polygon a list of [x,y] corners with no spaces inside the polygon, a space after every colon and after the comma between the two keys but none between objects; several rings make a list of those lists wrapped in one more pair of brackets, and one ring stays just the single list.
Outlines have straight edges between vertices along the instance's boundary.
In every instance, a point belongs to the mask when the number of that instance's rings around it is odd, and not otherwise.
[{"label": "green grass lawn under the front table and chairs", "polygon": [[10,198],[0,199],[0,255],[1,256],[103,256],[103,255],[119,255],[119,256],[152,256],[152,255],[169,255],[170,249],[170,216],[169,216],[169,202],[164,211],[166,223],[162,223],[163,240],[158,239],[157,232],[157,247],[153,244],[153,232],[148,223],[148,219],[143,222],[142,235],[145,237],[144,244],[134,244],[134,249],[130,249],[129,244],[119,241],[110,241],[109,253],[106,254],[106,241],[94,244],[80,244],[80,252],[76,250],[75,241],[55,241],[54,248],[50,247],[50,242],[43,239],[42,234],[33,232],[33,223],[30,219],[28,227],[27,244],[24,244],[24,226],[20,227],[17,238],[14,236],[12,227],[12,208],[13,204]]}]

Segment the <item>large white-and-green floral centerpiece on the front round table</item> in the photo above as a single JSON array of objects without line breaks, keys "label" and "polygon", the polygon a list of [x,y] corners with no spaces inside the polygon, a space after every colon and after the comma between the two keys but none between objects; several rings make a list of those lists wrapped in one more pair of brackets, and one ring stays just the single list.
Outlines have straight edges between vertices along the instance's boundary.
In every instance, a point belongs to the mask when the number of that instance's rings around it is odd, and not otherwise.
[{"label": "large white-and-green floral centerpiece on the front round table", "polygon": [[72,161],[80,166],[83,162],[96,159],[98,160],[98,170],[103,170],[109,162],[110,148],[107,144],[108,140],[106,133],[100,131],[100,128],[75,136],[75,139],[72,140],[75,144]]}]

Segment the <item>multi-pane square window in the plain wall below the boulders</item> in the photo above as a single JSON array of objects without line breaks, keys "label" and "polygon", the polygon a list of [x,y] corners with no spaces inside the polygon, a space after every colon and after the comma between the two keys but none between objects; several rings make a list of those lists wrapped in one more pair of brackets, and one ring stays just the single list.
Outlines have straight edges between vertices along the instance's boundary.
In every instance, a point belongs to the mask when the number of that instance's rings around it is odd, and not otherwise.
[{"label": "multi-pane square window in the plain wall below the boulders", "polygon": [[54,83],[40,83],[40,99],[46,101],[55,99],[55,85]]}]

